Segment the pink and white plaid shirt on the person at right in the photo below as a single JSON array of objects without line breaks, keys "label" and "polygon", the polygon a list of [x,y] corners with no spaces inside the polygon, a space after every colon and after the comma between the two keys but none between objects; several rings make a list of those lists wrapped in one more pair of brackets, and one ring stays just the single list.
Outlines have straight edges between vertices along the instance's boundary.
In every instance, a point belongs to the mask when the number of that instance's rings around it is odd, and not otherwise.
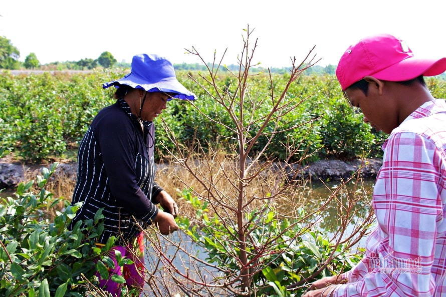
[{"label": "pink and white plaid shirt on the person at right", "polygon": [[446,103],[429,101],[382,146],[373,190],[377,227],[341,296],[446,296]]}]

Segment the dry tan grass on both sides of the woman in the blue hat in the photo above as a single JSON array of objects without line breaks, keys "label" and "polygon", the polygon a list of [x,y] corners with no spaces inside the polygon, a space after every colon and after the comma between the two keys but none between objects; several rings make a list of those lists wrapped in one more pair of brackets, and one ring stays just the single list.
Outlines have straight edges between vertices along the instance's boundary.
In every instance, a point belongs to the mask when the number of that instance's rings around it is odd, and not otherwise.
[{"label": "dry tan grass on both sides of the woman in the blue hat", "polygon": [[[235,158],[224,153],[219,153],[217,155],[217,158],[210,159],[210,161],[206,161],[206,163],[204,163],[202,159],[196,159],[190,166],[196,170],[196,172],[201,172],[202,174],[212,173],[216,179],[222,174],[223,170],[221,169],[224,168],[225,174],[229,175],[233,180],[237,180],[237,161]],[[206,160],[207,159],[209,158],[206,158]],[[40,174],[40,172],[36,169],[27,170],[25,172],[24,180],[28,181],[36,179],[38,174]],[[246,193],[247,197],[253,195],[266,196],[268,193],[271,193],[274,189],[269,185],[274,185],[277,178],[277,170],[274,170],[273,168],[265,170],[262,173],[262,176],[253,180],[250,184],[249,190]],[[182,191],[184,189],[193,189],[196,193],[206,195],[206,191],[197,179],[190,172],[172,161],[167,161],[158,165],[155,179],[156,182],[176,200],[180,213],[187,216],[193,216],[195,210],[182,198]],[[53,193],[54,197],[61,198],[61,200],[71,201],[75,183],[76,180],[73,176],[67,175],[62,170],[57,170],[48,182],[46,189]],[[237,199],[237,197],[234,196],[235,189],[233,189],[232,185],[225,183],[225,179],[220,178],[216,185],[219,189],[225,191],[225,197],[228,199],[226,202],[231,203]],[[285,208],[292,210],[305,205],[305,197],[310,196],[308,195],[308,191],[309,188],[306,181],[296,183],[287,193],[280,195],[279,199],[275,199],[276,201],[281,201],[280,205],[277,205],[277,207],[282,208],[281,210],[285,210]],[[253,206],[260,206],[259,204],[262,204],[262,202],[258,201],[258,203]],[[61,201],[54,207],[54,209],[49,209],[49,217],[53,217],[56,210],[60,210],[63,205],[64,203]],[[282,213],[286,212],[287,211]]]}]

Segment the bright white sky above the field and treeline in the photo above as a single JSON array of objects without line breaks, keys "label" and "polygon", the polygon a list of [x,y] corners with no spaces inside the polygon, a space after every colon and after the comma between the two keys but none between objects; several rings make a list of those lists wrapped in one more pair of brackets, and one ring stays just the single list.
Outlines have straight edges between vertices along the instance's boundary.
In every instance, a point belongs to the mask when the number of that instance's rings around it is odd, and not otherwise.
[{"label": "bright white sky above the field and treeline", "polygon": [[[255,62],[288,67],[313,46],[319,65],[336,65],[360,38],[389,33],[416,56],[445,57],[446,1],[23,1],[3,0],[0,36],[10,39],[21,61],[33,52],[41,64],[96,59],[109,51],[117,61],[158,54],[172,63],[206,62],[228,48],[224,64],[236,64],[243,29],[258,38]],[[441,29],[442,28],[442,29]]]}]

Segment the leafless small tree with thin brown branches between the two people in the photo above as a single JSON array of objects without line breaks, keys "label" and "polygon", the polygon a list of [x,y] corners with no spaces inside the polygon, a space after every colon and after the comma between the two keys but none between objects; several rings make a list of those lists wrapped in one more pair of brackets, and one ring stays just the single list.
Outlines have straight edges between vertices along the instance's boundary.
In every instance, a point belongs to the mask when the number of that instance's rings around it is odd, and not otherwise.
[{"label": "leafless small tree with thin brown branches between the two people", "polygon": [[[211,145],[209,151],[205,151],[201,145],[205,140],[202,139],[194,139],[193,145],[185,148],[165,125],[170,140],[177,148],[170,153],[174,156],[175,162],[183,168],[178,178],[182,180],[181,177],[188,174],[195,179],[196,186],[190,191],[199,201],[206,203],[209,211],[204,220],[198,216],[190,216],[188,218],[190,224],[206,230],[206,234],[213,234],[212,238],[206,240],[211,240],[220,246],[219,252],[231,261],[232,268],[225,265],[217,266],[214,262],[197,256],[187,245],[182,244],[183,240],[171,240],[169,237],[160,239],[159,236],[153,236],[151,231],[146,230],[154,255],[149,256],[152,269],[147,283],[155,296],[172,294],[169,287],[177,287],[187,296],[256,296],[258,290],[267,285],[256,280],[259,273],[271,264],[272,261],[267,259],[271,259],[272,255],[273,259],[277,259],[284,252],[279,244],[285,242],[290,246],[293,245],[300,236],[318,223],[321,219],[321,210],[325,209],[330,201],[340,199],[343,191],[341,185],[332,192],[327,201],[314,207],[310,212],[299,213],[296,197],[302,196],[302,186],[296,180],[304,168],[302,161],[311,152],[296,158],[296,152],[301,152],[305,148],[299,143],[290,141],[283,144],[284,150],[287,151],[287,159],[277,162],[270,157],[268,147],[279,133],[311,127],[311,121],[290,126],[284,121],[284,116],[294,112],[308,99],[289,96],[288,90],[308,67],[317,62],[313,56],[314,48],[300,63],[295,58],[291,59],[289,78],[282,86],[276,85],[273,75],[268,70],[266,75],[270,93],[258,94],[253,91],[250,83],[254,76],[262,75],[251,70],[253,66],[258,65],[254,62],[258,40],[253,41],[252,34],[253,30],[248,27],[243,37],[243,49],[238,57],[238,71],[231,71],[222,65],[226,51],[219,59],[214,53],[212,63],[207,64],[197,49],[192,47],[188,50],[207,67],[207,73],[199,74],[199,79],[189,75],[190,79],[204,90],[208,98],[224,108],[231,122],[224,123],[218,118],[204,114],[200,111],[199,103],[191,104],[209,121],[230,131],[231,141],[236,144],[237,151],[221,152]],[[219,73],[223,68],[229,72],[230,84],[222,84],[219,80]],[[264,108],[265,106],[267,108]],[[259,111],[261,107],[263,109]],[[261,139],[266,139],[263,147],[259,147]],[[356,181],[358,187],[360,186],[359,171],[345,182],[352,180]],[[187,182],[183,183],[186,188],[190,188]],[[329,267],[331,261],[339,255],[338,246],[342,245],[344,251],[348,250],[364,235],[366,232],[364,226],[371,221],[371,215],[357,224],[353,231],[346,231],[352,223],[356,211],[354,206],[359,199],[359,195],[353,196],[347,195],[346,203],[338,201],[340,223],[339,229],[333,233],[331,239],[332,253],[321,260],[314,273],[302,277],[300,281],[289,286],[290,290],[301,288]],[[296,203],[296,208],[292,207],[287,213],[277,213],[277,207],[274,206],[277,201],[294,201],[291,203]],[[267,219],[271,213],[274,215],[271,219]],[[268,233],[270,225],[277,223],[281,218],[289,219],[291,223],[281,228],[279,232]],[[218,228],[213,222],[218,222]],[[294,233],[293,237],[284,239],[283,235],[293,228],[298,228],[299,231]],[[164,289],[160,290],[160,287]]]}]

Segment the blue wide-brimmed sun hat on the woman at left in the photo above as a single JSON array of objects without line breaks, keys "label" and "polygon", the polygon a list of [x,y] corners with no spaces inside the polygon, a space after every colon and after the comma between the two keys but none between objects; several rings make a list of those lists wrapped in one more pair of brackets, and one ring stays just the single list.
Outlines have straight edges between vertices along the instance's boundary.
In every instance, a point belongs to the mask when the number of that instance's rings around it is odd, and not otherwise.
[{"label": "blue wide-brimmed sun hat on the woman at left", "polygon": [[111,86],[119,88],[120,85],[143,89],[147,92],[173,93],[173,98],[181,100],[196,99],[195,94],[178,82],[172,63],[158,55],[133,56],[131,72],[119,80],[103,84],[102,87],[104,89]]}]

